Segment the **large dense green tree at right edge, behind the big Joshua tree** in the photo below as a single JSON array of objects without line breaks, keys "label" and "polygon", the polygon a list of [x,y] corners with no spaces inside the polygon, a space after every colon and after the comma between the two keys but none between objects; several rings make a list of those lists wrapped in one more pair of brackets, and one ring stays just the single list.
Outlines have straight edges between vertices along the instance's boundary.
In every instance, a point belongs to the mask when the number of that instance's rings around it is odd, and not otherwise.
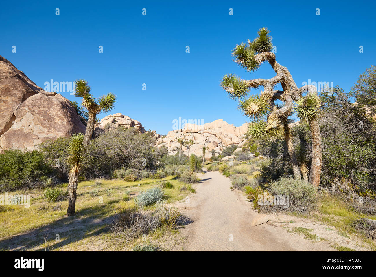
[{"label": "large dense green tree at right edge, behind the big Joshua tree", "polygon": [[320,95],[321,179],[324,186],[331,187],[335,180],[344,178],[365,196],[376,191],[376,125],[362,105],[352,103],[352,97],[353,93],[338,86]]}]

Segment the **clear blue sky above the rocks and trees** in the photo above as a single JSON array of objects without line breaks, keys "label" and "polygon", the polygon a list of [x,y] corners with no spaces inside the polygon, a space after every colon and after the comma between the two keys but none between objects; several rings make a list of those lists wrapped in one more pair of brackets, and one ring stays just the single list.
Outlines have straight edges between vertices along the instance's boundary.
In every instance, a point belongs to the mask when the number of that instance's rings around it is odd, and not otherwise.
[{"label": "clear blue sky above the rocks and trees", "polygon": [[219,82],[231,72],[245,79],[275,75],[269,64],[247,73],[232,61],[233,47],[261,27],[271,31],[277,61],[298,86],[311,79],[349,91],[376,64],[374,1],[309,2],[3,1],[0,55],[40,87],[83,78],[96,97],[115,93],[110,114],[137,119],[146,130],[166,134],[179,117],[239,126],[247,118]]}]

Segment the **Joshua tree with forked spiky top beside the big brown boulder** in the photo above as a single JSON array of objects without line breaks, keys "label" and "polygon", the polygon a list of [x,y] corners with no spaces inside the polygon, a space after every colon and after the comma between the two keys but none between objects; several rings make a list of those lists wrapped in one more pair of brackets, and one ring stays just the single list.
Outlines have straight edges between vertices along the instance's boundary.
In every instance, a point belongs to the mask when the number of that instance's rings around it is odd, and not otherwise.
[{"label": "Joshua tree with forked spiky top beside the big brown boulder", "polygon": [[113,93],[102,95],[99,99],[94,98],[90,93],[91,87],[85,80],[76,80],[76,89],[74,95],[82,97],[81,106],[85,107],[88,112],[88,123],[86,124],[85,131],[85,145],[87,146],[94,135],[94,124],[97,114],[100,112],[110,112],[114,108],[117,101]]}]

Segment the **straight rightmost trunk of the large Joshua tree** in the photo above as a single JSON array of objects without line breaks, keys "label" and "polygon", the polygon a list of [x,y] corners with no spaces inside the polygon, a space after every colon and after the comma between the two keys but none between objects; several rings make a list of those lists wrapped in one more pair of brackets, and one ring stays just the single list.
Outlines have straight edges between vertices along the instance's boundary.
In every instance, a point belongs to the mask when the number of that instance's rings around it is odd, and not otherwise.
[{"label": "straight rightmost trunk of the large Joshua tree", "polygon": [[309,129],[311,129],[312,138],[312,160],[311,171],[309,173],[309,182],[315,187],[318,187],[320,185],[322,154],[321,133],[317,119],[309,122]]}]

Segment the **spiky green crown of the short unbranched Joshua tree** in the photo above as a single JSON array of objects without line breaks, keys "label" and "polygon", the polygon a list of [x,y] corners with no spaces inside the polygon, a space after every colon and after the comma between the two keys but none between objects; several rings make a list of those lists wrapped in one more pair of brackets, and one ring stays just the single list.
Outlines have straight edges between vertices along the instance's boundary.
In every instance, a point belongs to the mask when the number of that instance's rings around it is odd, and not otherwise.
[{"label": "spiky green crown of the short unbranched Joshua tree", "polygon": [[86,163],[86,145],[85,136],[82,133],[76,133],[71,136],[67,147],[67,165],[70,172],[80,172]]}]

